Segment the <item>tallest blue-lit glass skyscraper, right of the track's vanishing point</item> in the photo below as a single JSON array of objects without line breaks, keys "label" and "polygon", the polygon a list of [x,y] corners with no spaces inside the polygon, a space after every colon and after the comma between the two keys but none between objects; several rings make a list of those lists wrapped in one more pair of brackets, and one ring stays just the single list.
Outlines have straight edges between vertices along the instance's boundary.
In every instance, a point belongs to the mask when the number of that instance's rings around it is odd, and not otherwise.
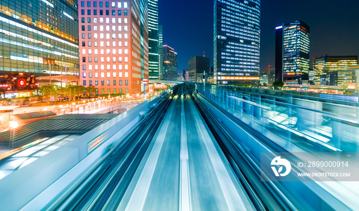
[{"label": "tallest blue-lit glass skyscraper, right of the track's vanishing point", "polygon": [[260,0],[214,1],[214,83],[258,84]]}]

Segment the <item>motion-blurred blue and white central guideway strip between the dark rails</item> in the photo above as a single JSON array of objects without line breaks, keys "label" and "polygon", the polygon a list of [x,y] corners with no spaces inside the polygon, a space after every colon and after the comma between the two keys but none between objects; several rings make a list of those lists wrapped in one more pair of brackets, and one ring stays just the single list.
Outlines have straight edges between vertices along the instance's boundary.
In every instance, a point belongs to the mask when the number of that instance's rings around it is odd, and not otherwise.
[{"label": "motion-blurred blue and white central guideway strip between the dark rails", "polygon": [[254,209],[192,101],[173,98],[117,210]]}]

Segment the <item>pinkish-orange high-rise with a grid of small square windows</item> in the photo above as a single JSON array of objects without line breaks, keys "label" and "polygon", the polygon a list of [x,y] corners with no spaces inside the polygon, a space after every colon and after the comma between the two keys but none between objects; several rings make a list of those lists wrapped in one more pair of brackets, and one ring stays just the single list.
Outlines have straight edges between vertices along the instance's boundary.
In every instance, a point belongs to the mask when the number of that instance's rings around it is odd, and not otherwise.
[{"label": "pinkish-orange high-rise with a grid of small square windows", "polygon": [[148,79],[147,1],[81,1],[81,85],[98,94],[139,94]]}]

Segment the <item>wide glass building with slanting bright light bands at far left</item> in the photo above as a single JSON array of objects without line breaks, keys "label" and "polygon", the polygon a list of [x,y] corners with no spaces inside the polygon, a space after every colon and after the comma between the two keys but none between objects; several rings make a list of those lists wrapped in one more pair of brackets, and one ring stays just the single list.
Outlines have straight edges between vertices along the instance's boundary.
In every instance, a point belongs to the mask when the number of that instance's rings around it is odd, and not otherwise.
[{"label": "wide glass building with slanting bright light bands at far left", "polygon": [[1,74],[79,75],[77,1],[2,0],[0,6]]}]

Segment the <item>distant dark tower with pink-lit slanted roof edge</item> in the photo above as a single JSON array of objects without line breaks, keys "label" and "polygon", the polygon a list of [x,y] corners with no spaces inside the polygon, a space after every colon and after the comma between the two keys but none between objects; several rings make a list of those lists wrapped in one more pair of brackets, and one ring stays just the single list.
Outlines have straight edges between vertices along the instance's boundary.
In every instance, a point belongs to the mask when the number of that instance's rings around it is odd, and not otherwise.
[{"label": "distant dark tower with pink-lit slanted roof edge", "polygon": [[163,46],[163,79],[177,80],[177,53],[167,45]]}]

